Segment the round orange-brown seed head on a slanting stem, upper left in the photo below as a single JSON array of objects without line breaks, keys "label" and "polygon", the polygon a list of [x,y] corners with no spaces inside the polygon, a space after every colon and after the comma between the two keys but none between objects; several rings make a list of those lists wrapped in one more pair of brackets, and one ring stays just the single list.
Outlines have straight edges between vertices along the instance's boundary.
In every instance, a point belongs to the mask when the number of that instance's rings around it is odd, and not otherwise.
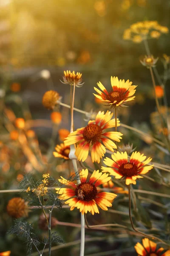
[{"label": "round orange-brown seed head on a slanting stem, upper left", "polygon": [[55,92],[54,90],[49,90],[44,93],[44,96],[42,97],[42,104],[45,108],[52,110],[60,98],[59,93]]}]

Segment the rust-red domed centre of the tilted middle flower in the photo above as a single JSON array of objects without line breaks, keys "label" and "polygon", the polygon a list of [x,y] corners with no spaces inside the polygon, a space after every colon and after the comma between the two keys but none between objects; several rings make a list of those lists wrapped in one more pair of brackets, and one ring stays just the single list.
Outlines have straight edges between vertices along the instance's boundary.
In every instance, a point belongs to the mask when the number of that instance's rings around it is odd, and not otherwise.
[{"label": "rust-red domed centre of the tilted middle flower", "polygon": [[99,125],[89,124],[83,131],[83,137],[88,143],[96,143],[101,138],[102,129]]}]

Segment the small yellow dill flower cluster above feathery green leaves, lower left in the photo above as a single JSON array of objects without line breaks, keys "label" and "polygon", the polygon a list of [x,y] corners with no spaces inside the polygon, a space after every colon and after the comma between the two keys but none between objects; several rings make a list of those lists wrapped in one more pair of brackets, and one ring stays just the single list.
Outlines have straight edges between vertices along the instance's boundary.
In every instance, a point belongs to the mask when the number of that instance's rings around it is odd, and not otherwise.
[{"label": "small yellow dill flower cluster above feathery green leaves, lower left", "polygon": [[47,192],[48,192],[48,178],[50,177],[49,173],[46,173],[46,174],[43,174],[42,177],[44,178],[42,180],[42,183],[40,185],[37,186],[37,188],[34,188],[34,189],[30,189],[30,187],[28,187],[27,189],[27,193],[29,191],[35,193],[37,196],[38,195],[46,195]]}]

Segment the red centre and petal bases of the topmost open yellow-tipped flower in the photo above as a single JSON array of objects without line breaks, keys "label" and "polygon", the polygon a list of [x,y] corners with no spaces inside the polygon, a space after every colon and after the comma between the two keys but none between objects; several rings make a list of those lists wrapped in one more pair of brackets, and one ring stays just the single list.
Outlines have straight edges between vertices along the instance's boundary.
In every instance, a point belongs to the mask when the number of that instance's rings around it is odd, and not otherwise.
[{"label": "red centre and petal bases of the topmost open yellow-tipped flower", "polygon": [[117,88],[118,90],[111,90],[108,95],[105,96],[105,99],[109,100],[111,103],[116,101],[113,105],[118,104],[122,100],[125,100],[127,98],[127,90],[125,88]]}]

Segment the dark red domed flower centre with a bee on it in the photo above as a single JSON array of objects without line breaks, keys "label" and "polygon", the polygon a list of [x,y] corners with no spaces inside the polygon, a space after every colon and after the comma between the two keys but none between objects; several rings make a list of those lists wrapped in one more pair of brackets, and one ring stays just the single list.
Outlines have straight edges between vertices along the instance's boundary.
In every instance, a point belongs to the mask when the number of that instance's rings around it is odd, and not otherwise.
[{"label": "dark red domed flower centre with a bee on it", "polygon": [[90,182],[82,182],[77,186],[75,194],[77,195],[77,198],[79,198],[80,200],[91,201],[94,198],[96,198],[97,189]]}]

